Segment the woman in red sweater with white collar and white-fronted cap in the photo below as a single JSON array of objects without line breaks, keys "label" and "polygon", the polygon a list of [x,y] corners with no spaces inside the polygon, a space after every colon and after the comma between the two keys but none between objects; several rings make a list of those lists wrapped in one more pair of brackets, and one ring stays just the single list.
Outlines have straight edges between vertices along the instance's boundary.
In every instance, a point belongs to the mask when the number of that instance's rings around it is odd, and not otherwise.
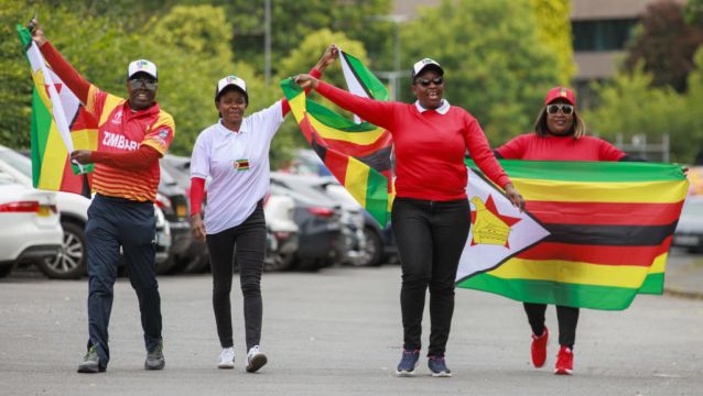
[{"label": "woman in red sweater with white collar and white-fronted cap", "polygon": [[391,222],[402,266],[404,337],[397,374],[412,375],[418,364],[429,287],[428,365],[434,376],[451,376],[444,352],[454,311],[456,268],[471,226],[466,151],[515,206],[523,207],[522,197],[494,157],[476,119],[442,98],[444,70],[439,63],[425,58],[414,64],[411,87],[417,101],[412,105],[361,98],[309,75],[295,81],[392,134],[397,196]]}]

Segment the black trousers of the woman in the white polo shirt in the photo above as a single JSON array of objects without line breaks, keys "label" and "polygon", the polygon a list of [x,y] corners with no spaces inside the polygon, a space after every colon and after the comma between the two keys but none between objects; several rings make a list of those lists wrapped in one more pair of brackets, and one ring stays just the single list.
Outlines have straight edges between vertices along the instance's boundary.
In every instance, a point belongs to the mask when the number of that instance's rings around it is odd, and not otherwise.
[{"label": "black trousers of the woman in the white polo shirt", "polygon": [[[235,268],[239,266],[239,283],[244,295],[247,350],[261,341],[261,272],[266,249],[266,219],[260,201],[253,213],[241,224],[207,235],[213,271],[213,308],[217,336],[223,348],[232,346],[231,305],[229,294]],[[235,246],[236,253],[235,253]]]}]

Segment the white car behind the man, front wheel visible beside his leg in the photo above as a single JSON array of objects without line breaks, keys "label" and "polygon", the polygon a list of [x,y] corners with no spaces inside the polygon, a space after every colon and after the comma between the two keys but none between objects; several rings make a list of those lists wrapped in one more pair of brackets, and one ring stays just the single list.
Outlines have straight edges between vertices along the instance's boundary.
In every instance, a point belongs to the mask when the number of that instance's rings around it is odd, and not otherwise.
[{"label": "white car behind the man, front wheel visible beside his leg", "polygon": [[[0,145],[0,172],[15,183],[32,188],[32,161],[26,156]],[[61,215],[64,230],[63,248],[53,257],[37,261],[36,266],[50,278],[73,279],[86,274],[85,224],[88,221],[90,199],[72,193],[46,191],[53,194]],[[156,216],[156,263],[169,257],[171,230],[163,212],[154,206]]]}]

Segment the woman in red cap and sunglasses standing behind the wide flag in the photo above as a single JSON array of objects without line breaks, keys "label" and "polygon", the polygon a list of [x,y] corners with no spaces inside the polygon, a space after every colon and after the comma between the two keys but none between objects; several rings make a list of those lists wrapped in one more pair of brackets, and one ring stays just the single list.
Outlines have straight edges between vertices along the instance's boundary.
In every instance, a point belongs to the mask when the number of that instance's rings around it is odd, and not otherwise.
[{"label": "woman in red cap and sunglasses standing behind the wide flag", "polygon": [[[610,143],[585,135],[586,128],[576,112],[571,89],[555,87],[547,92],[544,107],[534,123],[534,133],[515,138],[496,148],[498,158],[532,161],[638,161]],[[549,330],[544,326],[545,304],[524,302],[532,328],[532,364],[544,365]],[[556,306],[559,344],[555,374],[571,374],[578,308]]]}]

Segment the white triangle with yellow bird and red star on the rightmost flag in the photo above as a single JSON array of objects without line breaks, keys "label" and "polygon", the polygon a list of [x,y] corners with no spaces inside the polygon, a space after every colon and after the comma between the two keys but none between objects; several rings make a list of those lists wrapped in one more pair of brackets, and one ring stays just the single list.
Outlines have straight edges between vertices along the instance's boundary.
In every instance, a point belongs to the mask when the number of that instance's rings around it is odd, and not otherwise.
[{"label": "white triangle with yellow bird and red star on the rightmost flag", "polygon": [[471,167],[466,194],[476,220],[459,258],[456,282],[496,268],[549,235],[529,212],[520,212],[502,191]]}]

